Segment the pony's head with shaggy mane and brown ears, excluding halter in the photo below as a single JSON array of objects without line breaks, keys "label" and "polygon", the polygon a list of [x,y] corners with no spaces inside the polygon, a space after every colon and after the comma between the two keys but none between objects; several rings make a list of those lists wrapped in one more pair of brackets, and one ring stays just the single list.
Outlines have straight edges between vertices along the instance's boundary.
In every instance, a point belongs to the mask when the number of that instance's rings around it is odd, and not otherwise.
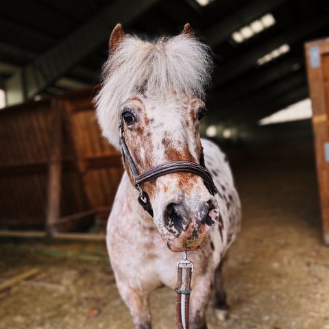
[{"label": "pony's head with shaggy mane and brown ears, excluding halter", "polygon": [[[110,36],[110,56],[95,99],[103,135],[119,148],[119,122],[123,123],[138,173],[176,160],[199,163],[199,120],[211,71],[209,49],[195,39],[188,24],[182,34],[156,42],[124,34],[118,24]],[[206,241],[219,210],[202,178],[171,173],[145,182],[143,190],[169,249],[193,250]]]}]

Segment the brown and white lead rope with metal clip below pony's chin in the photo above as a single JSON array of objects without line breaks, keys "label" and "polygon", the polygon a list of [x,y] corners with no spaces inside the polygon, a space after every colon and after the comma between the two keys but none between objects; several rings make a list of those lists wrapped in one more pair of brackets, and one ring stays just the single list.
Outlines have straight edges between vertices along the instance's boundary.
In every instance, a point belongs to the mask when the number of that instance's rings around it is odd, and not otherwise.
[{"label": "brown and white lead rope with metal clip below pony's chin", "polygon": [[188,329],[188,310],[190,306],[191,278],[194,266],[187,259],[187,252],[183,252],[183,259],[176,265],[177,271],[177,302],[176,302],[176,324],[178,329]]}]

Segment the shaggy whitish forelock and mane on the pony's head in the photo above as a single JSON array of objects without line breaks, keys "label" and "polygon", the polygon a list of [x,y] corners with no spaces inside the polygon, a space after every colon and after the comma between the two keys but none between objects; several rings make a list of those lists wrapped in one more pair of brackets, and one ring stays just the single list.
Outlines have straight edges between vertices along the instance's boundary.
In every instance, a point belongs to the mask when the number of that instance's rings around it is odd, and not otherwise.
[{"label": "shaggy whitish forelock and mane on the pony's head", "polygon": [[95,97],[103,135],[119,147],[118,111],[132,95],[204,97],[211,73],[209,47],[191,34],[159,38],[153,43],[125,35],[103,66],[101,90]]}]

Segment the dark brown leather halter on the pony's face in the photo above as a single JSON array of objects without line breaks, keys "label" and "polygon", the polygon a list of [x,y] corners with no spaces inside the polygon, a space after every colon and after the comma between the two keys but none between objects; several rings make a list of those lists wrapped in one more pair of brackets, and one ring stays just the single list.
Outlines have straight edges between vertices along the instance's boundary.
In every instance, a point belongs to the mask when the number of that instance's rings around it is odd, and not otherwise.
[{"label": "dark brown leather halter on the pony's face", "polygon": [[130,151],[127,148],[127,144],[125,143],[125,137],[123,136],[123,121],[120,120],[119,125],[119,143],[121,146],[121,153],[123,156],[123,164],[126,165],[125,160],[129,165],[130,171],[134,176],[134,186],[139,191],[138,202],[141,204],[144,210],[146,210],[151,217],[153,217],[153,210],[151,208],[151,203],[149,202],[149,195],[145,191],[143,191],[142,184],[145,182],[149,182],[150,180],[155,180],[156,178],[167,175],[169,173],[193,173],[194,175],[198,175],[204,180],[204,185],[208,188],[208,191],[211,195],[215,195],[217,193],[217,188],[215,186],[214,181],[211,178],[211,175],[206,169],[204,164],[204,151],[202,150],[202,154],[200,157],[200,164],[191,162],[191,161],[171,161],[164,164],[159,164],[156,167],[152,167],[143,173],[138,173],[136,166],[134,164],[134,160],[132,160],[132,156],[130,155]]}]

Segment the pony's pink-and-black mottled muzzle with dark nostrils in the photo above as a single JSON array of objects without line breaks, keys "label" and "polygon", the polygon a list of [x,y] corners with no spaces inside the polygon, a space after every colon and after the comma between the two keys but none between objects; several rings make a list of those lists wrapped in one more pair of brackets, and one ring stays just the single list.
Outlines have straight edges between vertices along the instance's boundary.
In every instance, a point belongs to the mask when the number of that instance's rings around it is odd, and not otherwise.
[{"label": "pony's pink-and-black mottled muzzle with dark nostrils", "polygon": [[218,218],[214,198],[208,202],[170,203],[164,210],[162,239],[173,252],[195,250],[206,241]]}]

